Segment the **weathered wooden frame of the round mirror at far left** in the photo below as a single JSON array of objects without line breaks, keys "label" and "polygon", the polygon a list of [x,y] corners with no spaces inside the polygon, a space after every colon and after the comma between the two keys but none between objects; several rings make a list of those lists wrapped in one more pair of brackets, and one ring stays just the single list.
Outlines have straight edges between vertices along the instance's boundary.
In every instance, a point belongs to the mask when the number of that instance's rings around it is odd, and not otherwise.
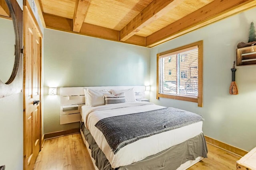
[{"label": "weathered wooden frame of the round mirror at far left", "polygon": [[23,13],[16,0],[5,0],[10,10],[10,18],[14,25],[15,32],[15,60],[12,74],[9,80],[4,83],[0,80],[0,98],[22,92],[22,45],[23,45]]}]

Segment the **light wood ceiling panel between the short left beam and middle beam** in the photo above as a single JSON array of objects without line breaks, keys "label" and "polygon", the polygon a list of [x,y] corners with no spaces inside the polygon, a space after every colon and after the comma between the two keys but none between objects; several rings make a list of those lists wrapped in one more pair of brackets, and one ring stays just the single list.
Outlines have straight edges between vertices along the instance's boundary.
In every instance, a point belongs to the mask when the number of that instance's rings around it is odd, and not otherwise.
[{"label": "light wood ceiling panel between the short left beam and middle beam", "polygon": [[152,0],[91,0],[84,22],[120,31]]}]

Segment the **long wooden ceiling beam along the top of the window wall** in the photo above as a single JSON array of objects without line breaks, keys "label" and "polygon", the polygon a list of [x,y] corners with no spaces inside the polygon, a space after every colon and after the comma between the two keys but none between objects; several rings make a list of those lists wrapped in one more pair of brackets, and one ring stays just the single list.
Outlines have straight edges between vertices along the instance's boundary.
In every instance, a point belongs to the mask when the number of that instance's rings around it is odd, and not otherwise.
[{"label": "long wooden ceiling beam along the top of the window wall", "polygon": [[146,37],[146,47],[154,47],[255,6],[256,0],[214,0],[199,10]]}]

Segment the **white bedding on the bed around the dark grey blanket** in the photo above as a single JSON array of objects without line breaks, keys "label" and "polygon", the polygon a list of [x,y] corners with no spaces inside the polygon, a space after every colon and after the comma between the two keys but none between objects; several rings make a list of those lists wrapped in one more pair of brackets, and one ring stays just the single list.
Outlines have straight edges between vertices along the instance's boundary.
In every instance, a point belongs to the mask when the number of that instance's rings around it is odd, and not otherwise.
[{"label": "white bedding on the bed around the dark grey blanket", "polygon": [[82,121],[86,128],[94,137],[100,149],[106,155],[112,168],[126,166],[133,162],[138,162],[147,156],[161,152],[174,145],[178,145],[192,137],[202,133],[202,121],[191,125],[166,131],[122,147],[116,154],[109,147],[104,135],[95,127],[95,124],[106,117],[125,115],[130,113],[139,113],[164,108],[149,102],[131,102],[121,104],[110,104],[103,106],[82,106]]}]

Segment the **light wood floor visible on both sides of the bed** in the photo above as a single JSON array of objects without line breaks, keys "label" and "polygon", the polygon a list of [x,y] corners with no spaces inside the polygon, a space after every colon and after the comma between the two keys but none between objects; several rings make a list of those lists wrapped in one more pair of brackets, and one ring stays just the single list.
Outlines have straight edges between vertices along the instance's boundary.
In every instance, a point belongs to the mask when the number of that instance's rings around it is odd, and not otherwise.
[{"label": "light wood floor visible on both sides of the bed", "polygon": [[[240,159],[239,156],[210,144],[207,146],[208,158],[188,170],[236,170],[236,160]],[[94,170],[94,166],[78,133],[46,140],[34,170]]]}]

